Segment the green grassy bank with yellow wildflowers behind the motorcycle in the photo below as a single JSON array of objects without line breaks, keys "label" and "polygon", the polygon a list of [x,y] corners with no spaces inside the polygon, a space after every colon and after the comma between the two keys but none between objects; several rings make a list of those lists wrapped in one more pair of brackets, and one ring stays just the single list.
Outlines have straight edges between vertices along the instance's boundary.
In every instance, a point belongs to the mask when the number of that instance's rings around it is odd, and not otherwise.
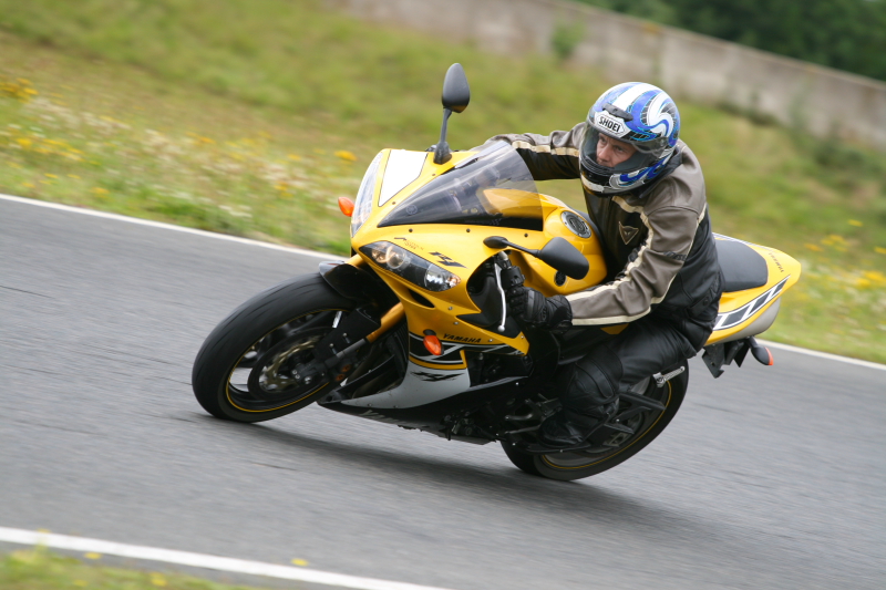
[{"label": "green grassy bank with yellow wildflowers behind the motorcycle", "polygon": [[[568,128],[610,82],[309,0],[0,0],[0,190],[339,253],[336,198],[435,142],[450,63],[455,148]],[[886,362],[886,156],[678,102],[715,230],[804,265],[766,338]]]}]

